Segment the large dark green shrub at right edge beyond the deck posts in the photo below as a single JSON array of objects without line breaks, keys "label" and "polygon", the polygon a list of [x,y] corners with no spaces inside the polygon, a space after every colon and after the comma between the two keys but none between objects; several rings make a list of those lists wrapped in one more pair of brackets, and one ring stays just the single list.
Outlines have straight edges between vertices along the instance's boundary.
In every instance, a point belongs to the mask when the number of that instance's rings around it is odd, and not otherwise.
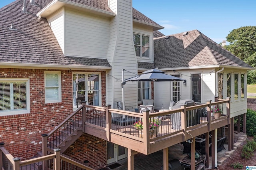
[{"label": "large dark green shrub at right edge beyond the deck posts", "polygon": [[248,136],[256,135],[256,111],[247,109],[246,113],[246,133]]}]

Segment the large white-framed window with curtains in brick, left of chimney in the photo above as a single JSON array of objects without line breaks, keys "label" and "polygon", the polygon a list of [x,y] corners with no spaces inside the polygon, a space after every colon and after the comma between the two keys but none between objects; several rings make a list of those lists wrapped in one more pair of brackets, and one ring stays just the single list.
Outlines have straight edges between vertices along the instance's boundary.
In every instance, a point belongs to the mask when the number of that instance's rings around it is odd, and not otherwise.
[{"label": "large white-framed window with curtains in brick, left of chimney", "polygon": [[88,105],[101,105],[100,74],[73,73],[73,106],[85,102]]}]

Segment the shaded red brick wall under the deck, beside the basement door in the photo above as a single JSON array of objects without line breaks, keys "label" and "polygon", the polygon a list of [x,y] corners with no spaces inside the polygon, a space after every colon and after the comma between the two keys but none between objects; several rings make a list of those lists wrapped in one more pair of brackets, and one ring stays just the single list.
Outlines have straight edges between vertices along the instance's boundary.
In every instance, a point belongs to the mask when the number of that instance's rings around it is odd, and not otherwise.
[{"label": "shaded red brick wall under the deck, beside the basement door", "polygon": [[83,134],[64,152],[64,154],[80,160],[81,162],[88,160],[87,166],[100,169],[107,164],[106,145],[106,140],[90,134]]}]

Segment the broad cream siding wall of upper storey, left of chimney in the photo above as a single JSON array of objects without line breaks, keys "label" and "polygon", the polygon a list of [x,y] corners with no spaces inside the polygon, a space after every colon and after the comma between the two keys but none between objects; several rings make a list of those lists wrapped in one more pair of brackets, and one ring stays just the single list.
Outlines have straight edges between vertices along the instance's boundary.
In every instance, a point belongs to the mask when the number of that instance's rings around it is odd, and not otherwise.
[{"label": "broad cream siding wall of upper storey, left of chimney", "polygon": [[110,20],[65,10],[65,55],[106,58]]}]

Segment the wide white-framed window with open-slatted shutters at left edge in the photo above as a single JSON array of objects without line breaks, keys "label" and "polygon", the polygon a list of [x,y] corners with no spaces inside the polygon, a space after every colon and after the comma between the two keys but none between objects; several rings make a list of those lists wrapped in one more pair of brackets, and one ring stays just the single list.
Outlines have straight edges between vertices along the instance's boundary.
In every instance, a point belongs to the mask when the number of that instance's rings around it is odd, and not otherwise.
[{"label": "wide white-framed window with open-slatted shutters at left edge", "polygon": [[0,116],[30,112],[29,79],[0,79]]}]

